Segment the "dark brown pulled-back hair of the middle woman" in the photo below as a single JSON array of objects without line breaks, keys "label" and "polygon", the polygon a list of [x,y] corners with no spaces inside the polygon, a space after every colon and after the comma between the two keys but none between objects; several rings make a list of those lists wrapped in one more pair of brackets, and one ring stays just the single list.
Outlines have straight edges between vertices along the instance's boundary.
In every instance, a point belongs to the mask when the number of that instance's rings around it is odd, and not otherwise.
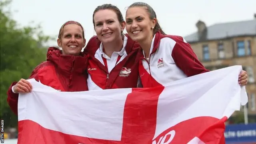
[{"label": "dark brown pulled-back hair of the middle woman", "polygon": [[93,22],[94,29],[95,29],[94,15],[95,15],[96,12],[98,12],[100,10],[113,10],[117,15],[117,18],[118,18],[118,21],[120,22],[120,24],[122,22],[124,22],[123,15],[122,15],[121,11],[119,10],[119,8],[117,8],[116,6],[114,6],[112,4],[102,4],[100,6],[97,6],[97,8],[95,8],[95,10],[92,14],[92,22]]}]

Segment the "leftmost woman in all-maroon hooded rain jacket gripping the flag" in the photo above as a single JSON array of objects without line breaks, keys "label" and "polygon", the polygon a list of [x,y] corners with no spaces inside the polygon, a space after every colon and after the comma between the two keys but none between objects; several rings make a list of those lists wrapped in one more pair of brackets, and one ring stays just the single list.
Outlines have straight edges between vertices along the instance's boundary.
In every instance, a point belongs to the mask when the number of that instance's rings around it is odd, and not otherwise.
[{"label": "leftmost woman in all-maroon hooded rain jacket gripping the flag", "polygon": [[[77,92],[88,90],[86,68],[88,56],[81,52],[85,45],[84,29],[80,23],[68,21],[60,28],[58,46],[50,47],[46,62],[39,64],[30,75],[46,86],[59,91]],[[12,111],[18,112],[18,93],[32,91],[31,84],[24,79],[13,82],[8,90],[8,104]]]}]

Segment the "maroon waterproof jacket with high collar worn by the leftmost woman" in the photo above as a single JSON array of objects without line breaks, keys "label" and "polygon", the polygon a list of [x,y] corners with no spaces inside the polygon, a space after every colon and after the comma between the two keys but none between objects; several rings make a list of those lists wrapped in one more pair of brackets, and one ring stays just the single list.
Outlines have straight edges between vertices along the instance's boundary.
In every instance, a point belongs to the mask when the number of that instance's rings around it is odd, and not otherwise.
[{"label": "maroon waterproof jacket with high collar worn by the leftmost woman", "polygon": [[[81,52],[80,56],[62,55],[58,48],[50,47],[47,61],[34,68],[28,79],[34,78],[42,84],[61,91],[86,91],[88,57]],[[12,111],[18,113],[18,94],[12,92],[13,82],[8,89],[7,102]]]}]

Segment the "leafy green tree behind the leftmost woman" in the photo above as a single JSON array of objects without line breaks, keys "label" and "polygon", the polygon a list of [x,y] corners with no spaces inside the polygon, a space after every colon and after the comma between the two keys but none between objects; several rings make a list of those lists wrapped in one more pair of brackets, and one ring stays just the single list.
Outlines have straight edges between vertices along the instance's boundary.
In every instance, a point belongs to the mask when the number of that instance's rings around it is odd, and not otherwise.
[{"label": "leafy green tree behind the leftmost woman", "polygon": [[10,84],[20,78],[28,78],[32,70],[46,60],[43,44],[50,40],[40,26],[18,27],[8,9],[11,0],[0,1],[0,117],[6,127],[17,126],[17,116],[7,103]]}]

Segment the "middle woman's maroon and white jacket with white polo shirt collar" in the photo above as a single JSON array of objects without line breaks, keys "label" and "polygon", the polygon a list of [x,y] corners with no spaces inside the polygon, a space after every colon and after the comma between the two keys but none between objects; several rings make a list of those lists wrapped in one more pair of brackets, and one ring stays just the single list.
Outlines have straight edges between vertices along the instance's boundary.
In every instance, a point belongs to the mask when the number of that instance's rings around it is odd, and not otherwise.
[{"label": "middle woman's maroon and white jacket with white polo shirt collar", "polygon": [[123,48],[120,52],[114,52],[109,58],[103,52],[102,42],[93,36],[84,53],[88,58],[88,89],[102,90],[113,88],[137,88],[138,65],[142,50],[137,42],[128,35],[124,36]]}]

